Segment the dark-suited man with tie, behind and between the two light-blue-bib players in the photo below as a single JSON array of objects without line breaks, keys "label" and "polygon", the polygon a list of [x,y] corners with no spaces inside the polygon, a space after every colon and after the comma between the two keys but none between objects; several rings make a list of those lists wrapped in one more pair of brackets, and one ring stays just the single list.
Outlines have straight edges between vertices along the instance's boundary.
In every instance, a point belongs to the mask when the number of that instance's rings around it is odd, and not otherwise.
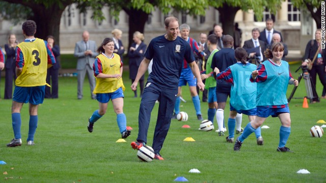
[{"label": "dark-suited man with tie, behind and between the two light-blue-bib players", "polygon": [[[259,28],[253,28],[252,32],[252,39],[244,41],[243,43],[243,49],[245,49],[248,52],[248,58],[254,59],[259,62],[263,62],[264,60],[264,51],[266,48],[266,45],[263,41],[258,40],[259,37]],[[256,52],[251,51],[252,48],[260,47],[260,54],[257,54]],[[251,50],[250,50],[251,49]]]}]

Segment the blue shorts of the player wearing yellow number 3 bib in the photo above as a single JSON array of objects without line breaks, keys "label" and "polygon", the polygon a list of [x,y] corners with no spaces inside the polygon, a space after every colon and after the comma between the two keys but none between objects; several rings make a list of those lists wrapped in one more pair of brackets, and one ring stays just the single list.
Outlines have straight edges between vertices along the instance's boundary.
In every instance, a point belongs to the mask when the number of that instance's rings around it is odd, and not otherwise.
[{"label": "blue shorts of the player wearing yellow number 3 bib", "polygon": [[43,104],[44,94],[45,85],[28,87],[16,86],[12,100],[19,103],[30,103],[33,105],[38,105]]}]

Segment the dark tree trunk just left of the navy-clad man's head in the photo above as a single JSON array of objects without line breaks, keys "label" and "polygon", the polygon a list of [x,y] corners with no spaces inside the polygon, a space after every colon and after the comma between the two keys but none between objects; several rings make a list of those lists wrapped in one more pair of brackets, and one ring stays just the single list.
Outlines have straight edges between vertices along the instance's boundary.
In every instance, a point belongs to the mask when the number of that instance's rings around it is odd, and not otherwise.
[{"label": "dark tree trunk just left of the navy-clad man's head", "polygon": [[133,33],[139,31],[144,34],[145,23],[148,19],[148,14],[136,9],[125,9],[123,10],[129,15],[129,37],[128,37],[128,50],[133,43]]}]

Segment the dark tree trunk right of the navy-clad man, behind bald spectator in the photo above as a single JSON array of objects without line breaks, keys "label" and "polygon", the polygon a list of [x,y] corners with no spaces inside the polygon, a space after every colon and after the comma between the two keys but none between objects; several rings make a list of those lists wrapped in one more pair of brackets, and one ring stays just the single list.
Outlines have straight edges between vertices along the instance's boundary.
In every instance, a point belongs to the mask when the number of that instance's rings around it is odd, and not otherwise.
[{"label": "dark tree trunk right of the navy-clad man, behind bald spectator", "polygon": [[222,22],[222,29],[224,35],[234,35],[234,17],[239,7],[231,7],[224,3],[223,7],[217,8],[220,12],[220,20]]}]

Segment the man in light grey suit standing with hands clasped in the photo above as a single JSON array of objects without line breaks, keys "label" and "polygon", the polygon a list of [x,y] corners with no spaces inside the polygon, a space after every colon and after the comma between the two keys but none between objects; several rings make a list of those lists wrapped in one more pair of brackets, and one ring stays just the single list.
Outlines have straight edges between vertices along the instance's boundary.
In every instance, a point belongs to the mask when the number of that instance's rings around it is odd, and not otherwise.
[{"label": "man in light grey suit standing with hands clasped", "polygon": [[77,57],[77,98],[80,100],[83,98],[83,84],[85,75],[87,73],[88,80],[91,88],[91,97],[96,99],[96,95],[93,94],[95,88],[95,77],[93,72],[93,64],[95,57],[98,55],[96,52],[95,41],[89,40],[90,34],[88,31],[83,32],[83,40],[78,41],[75,45],[74,56]]}]

